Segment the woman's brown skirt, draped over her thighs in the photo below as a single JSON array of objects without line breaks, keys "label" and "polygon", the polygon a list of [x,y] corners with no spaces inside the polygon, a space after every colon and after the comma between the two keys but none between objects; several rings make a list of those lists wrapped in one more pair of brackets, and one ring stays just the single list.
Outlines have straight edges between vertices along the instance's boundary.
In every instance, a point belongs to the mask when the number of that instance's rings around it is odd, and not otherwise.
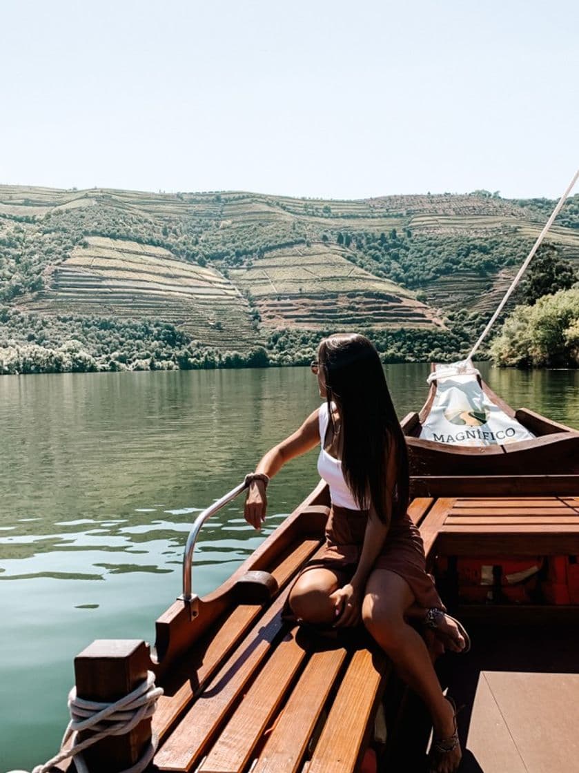
[{"label": "woman's brown skirt, draped over her thighs", "polygon": [[[350,510],[332,505],[325,527],[322,555],[309,561],[303,571],[325,568],[343,575],[345,579],[352,577],[362,552],[367,520],[367,510]],[[406,515],[390,524],[373,568],[387,569],[403,577],[420,607],[445,609],[434,587],[434,579],[427,573],[422,537],[410,516]]]}]

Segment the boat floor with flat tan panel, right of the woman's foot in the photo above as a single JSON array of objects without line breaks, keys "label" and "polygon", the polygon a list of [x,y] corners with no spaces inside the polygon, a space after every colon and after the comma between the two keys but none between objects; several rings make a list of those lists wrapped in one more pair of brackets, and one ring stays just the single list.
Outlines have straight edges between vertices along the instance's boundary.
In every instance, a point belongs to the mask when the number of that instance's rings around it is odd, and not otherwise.
[{"label": "boat floor with flat tan panel, right of the woman's foot", "polygon": [[[438,662],[457,706],[461,773],[579,771],[577,624],[469,625],[472,650]],[[410,696],[384,771],[426,773],[430,732]]]}]

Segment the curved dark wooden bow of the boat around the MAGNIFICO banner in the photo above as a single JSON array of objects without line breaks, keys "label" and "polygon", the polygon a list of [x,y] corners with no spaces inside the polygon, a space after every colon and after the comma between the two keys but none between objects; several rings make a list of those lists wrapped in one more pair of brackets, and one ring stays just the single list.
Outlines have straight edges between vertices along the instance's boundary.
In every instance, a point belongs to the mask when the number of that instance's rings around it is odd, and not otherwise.
[{"label": "curved dark wooden bow of the boat around the MAGNIFICO banner", "polygon": [[490,445],[449,444],[421,438],[437,394],[438,383],[432,379],[422,409],[407,414],[400,422],[407,440],[411,475],[518,475],[521,471],[527,475],[579,473],[579,431],[528,408],[513,410],[480,376],[477,380],[489,403],[513,422],[518,422],[534,438],[510,443],[498,441]]}]

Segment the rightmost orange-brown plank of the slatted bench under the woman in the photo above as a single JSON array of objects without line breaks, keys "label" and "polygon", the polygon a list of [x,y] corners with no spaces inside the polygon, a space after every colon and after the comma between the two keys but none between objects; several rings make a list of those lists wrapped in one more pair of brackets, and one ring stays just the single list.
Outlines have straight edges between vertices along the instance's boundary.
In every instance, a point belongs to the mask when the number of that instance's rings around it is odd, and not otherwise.
[{"label": "rightmost orange-brown plank of the slatted bench under the woman", "polygon": [[383,652],[372,654],[360,649],[354,653],[316,744],[308,773],[353,773],[389,669]]}]

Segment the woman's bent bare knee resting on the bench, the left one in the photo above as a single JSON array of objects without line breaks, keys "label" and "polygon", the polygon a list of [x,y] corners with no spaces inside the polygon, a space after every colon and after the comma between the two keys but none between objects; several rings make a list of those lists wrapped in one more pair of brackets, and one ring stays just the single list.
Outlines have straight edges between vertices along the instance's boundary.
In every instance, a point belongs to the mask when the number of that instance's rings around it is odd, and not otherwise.
[{"label": "woman's bent bare knee resting on the bench, the left one", "polygon": [[289,604],[296,618],[314,625],[329,625],[335,620],[330,594],[345,582],[342,573],[331,569],[306,569],[291,588]]}]

